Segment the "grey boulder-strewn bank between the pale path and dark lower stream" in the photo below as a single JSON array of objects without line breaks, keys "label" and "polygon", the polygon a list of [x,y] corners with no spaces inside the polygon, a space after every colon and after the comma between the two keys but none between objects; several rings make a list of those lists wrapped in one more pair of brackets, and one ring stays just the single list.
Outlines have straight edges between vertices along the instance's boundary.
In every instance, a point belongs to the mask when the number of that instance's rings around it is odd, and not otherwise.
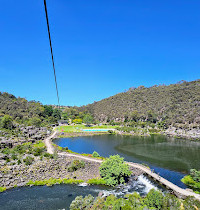
[{"label": "grey boulder-strewn bank between the pale path and dark lower stream", "polygon": [[99,163],[85,162],[85,167],[69,172],[68,168],[75,157],[57,157],[54,159],[37,157],[31,165],[5,165],[0,169],[0,186],[6,189],[25,186],[30,180],[45,179],[82,179],[87,181],[99,178]]}]

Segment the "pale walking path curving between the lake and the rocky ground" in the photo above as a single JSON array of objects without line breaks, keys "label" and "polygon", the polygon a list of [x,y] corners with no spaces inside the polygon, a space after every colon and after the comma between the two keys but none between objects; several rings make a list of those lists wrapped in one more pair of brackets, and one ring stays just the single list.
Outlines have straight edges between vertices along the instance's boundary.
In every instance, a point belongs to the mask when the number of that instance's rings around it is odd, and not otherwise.
[{"label": "pale walking path curving between the lake and the rocky ground", "polygon": [[[57,131],[54,131],[54,133],[49,136],[48,138],[45,139],[45,144],[47,147],[47,152],[50,154],[54,153],[54,147],[51,144],[51,139],[55,137]],[[99,159],[95,159],[95,158],[90,158],[90,157],[85,157],[82,155],[78,155],[78,154],[71,154],[71,153],[66,153],[66,152],[59,152],[58,155],[60,156],[68,156],[68,157],[77,157],[83,160],[87,160],[87,161],[92,161],[92,162],[96,162],[96,163],[102,163],[103,160],[99,160]],[[164,185],[167,189],[171,190],[177,197],[180,198],[186,198],[188,196],[194,196],[197,200],[200,201],[200,195],[196,194],[194,192],[188,191],[186,189],[180,188],[177,185],[171,183],[170,181],[164,179],[163,177],[161,177],[160,175],[154,173],[153,171],[151,171],[151,169],[138,164],[138,163],[133,163],[133,162],[126,162],[129,166],[132,166],[134,168],[140,169],[143,171],[143,173],[147,174],[149,177],[153,178],[155,181],[159,182],[160,184]]]}]

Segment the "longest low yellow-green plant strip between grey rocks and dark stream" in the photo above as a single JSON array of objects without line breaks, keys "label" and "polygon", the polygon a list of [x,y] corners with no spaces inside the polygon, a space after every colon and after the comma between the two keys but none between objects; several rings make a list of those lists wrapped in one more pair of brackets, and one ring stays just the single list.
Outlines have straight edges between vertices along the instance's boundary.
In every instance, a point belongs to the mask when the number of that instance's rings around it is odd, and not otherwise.
[{"label": "longest low yellow-green plant strip between grey rocks and dark stream", "polygon": [[39,180],[39,181],[32,181],[29,180],[26,185],[27,186],[31,186],[31,185],[35,185],[35,186],[41,186],[41,185],[47,185],[47,186],[52,186],[55,184],[80,184],[84,182],[81,179],[54,179],[54,178],[50,178],[50,179],[44,179],[44,180]]}]

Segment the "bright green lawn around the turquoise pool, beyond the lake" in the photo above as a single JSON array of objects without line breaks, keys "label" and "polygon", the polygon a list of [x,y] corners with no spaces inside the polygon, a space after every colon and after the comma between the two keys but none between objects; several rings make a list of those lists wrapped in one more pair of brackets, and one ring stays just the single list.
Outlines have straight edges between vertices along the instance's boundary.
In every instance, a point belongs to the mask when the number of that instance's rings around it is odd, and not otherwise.
[{"label": "bright green lawn around the turquoise pool, beyond the lake", "polygon": [[111,126],[111,125],[101,125],[97,126],[94,125],[92,127],[87,127],[85,125],[65,125],[65,126],[59,126],[56,130],[59,132],[82,132],[82,129],[115,129],[118,126]]}]

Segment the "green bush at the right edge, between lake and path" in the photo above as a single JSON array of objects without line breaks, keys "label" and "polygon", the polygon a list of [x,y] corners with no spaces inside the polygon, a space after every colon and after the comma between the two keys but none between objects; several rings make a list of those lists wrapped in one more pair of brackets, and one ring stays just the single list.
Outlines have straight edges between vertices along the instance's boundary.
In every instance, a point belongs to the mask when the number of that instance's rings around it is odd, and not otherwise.
[{"label": "green bush at the right edge, between lake and path", "polygon": [[200,193],[200,171],[190,170],[190,175],[185,176],[181,181],[190,186],[196,193]]}]

